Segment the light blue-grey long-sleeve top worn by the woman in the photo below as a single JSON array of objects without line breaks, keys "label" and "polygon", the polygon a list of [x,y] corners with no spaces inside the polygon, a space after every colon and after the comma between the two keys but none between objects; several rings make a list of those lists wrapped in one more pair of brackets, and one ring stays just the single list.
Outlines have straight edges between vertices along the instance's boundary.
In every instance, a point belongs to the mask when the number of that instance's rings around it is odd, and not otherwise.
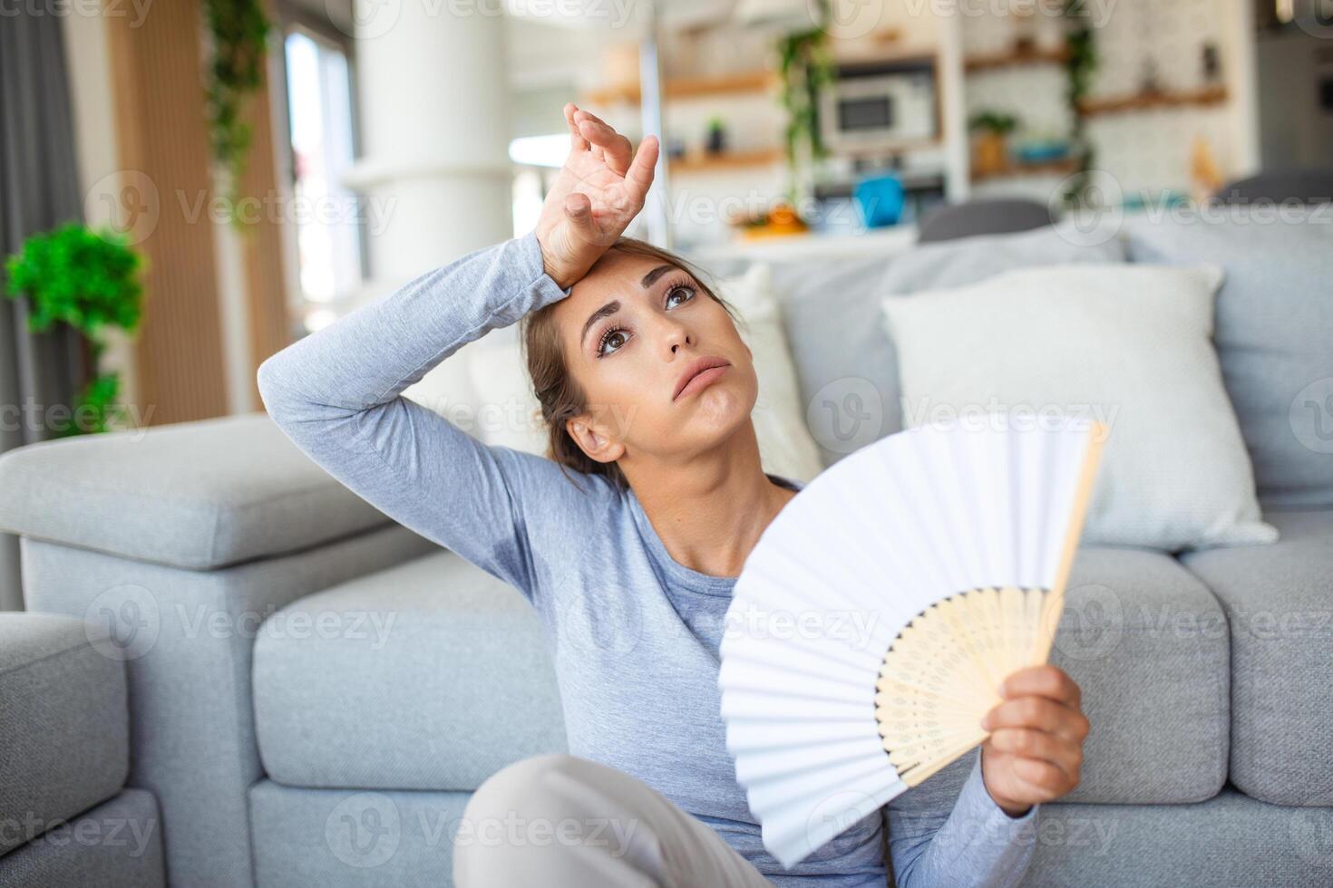
[{"label": "light blue-grey long-sleeve top worn by the woman", "polygon": [[776,885],[882,887],[885,831],[904,888],[1017,884],[1038,807],[1022,817],[1001,811],[978,751],[784,871],[761,844],[720,716],[718,644],[734,578],[676,562],[632,490],[593,475],[575,486],[553,462],[484,445],[401,397],[467,342],[565,296],[533,234],[477,250],[264,361],[264,405],[352,491],[532,603],[573,755],[643,780]]}]

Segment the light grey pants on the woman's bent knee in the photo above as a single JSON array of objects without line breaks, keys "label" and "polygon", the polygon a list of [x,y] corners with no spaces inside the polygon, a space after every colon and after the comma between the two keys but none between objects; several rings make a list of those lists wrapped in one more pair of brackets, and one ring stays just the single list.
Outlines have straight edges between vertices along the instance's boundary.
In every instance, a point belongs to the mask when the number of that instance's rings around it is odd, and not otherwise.
[{"label": "light grey pants on the woman's bent knee", "polygon": [[493,774],[453,843],[459,888],[772,888],[708,824],[588,759],[539,755]]}]

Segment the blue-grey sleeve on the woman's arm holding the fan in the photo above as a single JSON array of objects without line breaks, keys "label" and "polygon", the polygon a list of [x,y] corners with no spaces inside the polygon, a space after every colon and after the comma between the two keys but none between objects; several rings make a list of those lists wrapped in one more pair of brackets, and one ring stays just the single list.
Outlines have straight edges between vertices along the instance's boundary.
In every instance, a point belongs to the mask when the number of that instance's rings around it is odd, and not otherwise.
[{"label": "blue-grey sleeve on the woman's arm holding the fan", "polygon": [[[893,877],[898,888],[1017,885],[1036,845],[1040,805],[1010,817],[981,776],[981,750],[958,785],[961,759],[884,808]],[[952,771],[952,781],[948,774]],[[936,783],[944,777],[942,783]],[[932,785],[934,784],[934,785]],[[952,804],[950,804],[952,801]]]}]

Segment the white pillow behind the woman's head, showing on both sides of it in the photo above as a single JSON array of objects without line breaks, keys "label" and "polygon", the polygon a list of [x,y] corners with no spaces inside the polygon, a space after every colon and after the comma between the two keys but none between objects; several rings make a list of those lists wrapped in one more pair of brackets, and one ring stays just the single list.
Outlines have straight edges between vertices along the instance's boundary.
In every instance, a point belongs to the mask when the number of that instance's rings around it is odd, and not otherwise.
[{"label": "white pillow behind the woman's head, showing on both sides of it", "polygon": [[[716,290],[746,322],[740,326],[740,334],[754,353],[758,401],[750,418],[764,470],[808,482],[821,471],[822,463],[805,427],[772,272],[768,265],[752,265],[738,278],[718,281]],[[544,455],[547,435],[519,341],[504,337],[492,343],[495,335],[485,337],[468,361],[477,398],[475,434],[491,445]]]}]

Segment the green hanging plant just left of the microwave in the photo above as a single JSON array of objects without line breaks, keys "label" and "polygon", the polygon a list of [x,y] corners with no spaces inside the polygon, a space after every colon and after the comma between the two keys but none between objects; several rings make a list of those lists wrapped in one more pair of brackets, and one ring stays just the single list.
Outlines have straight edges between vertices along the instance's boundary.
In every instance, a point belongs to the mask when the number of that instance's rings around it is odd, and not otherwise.
[{"label": "green hanging plant just left of the microwave", "polygon": [[[828,21],[828,3],[818,0],[820,21]],[[778,104],[786,111],[784,148],[789,182],[786,196],[794,205],[805,162],[828,156],[820,134],[820,93],[833,83],[833,56],[824,28],[789,33],[777,41]]]}]

